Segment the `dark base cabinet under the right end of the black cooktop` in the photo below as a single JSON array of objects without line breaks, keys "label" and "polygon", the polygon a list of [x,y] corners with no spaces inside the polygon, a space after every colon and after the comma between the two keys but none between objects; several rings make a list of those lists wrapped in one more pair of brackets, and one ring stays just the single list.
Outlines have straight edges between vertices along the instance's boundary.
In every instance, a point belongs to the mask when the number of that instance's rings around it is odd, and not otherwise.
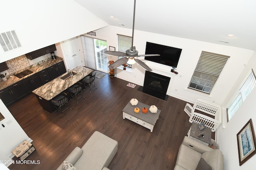
[{"label": "dark base cabinet under the right end of the black cooktop", "polygon": [[38,73],[33,74],[32,76],[29,76],[22,80],[22,83],[24,87],[26,88],[27,92],[32,92],[36,88],[42,86],[42,82],[40,80],[40,77]]}]

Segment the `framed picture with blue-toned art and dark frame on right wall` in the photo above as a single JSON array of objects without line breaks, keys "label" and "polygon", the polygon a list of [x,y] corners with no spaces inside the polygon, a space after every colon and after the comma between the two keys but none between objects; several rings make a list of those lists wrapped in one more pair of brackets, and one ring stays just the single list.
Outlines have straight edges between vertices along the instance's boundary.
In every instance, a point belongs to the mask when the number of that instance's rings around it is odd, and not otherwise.
[{"label": "framed picture with blue-toned art and dark frame on right wall", "polygon": [[252,125],[252,119],[250,119],[244,127],[238,132],[237,145],[238,145],[238,156],[239,165],[241,166],[250,159],[254,154],[256,154],[256,141],[255,133]]}]

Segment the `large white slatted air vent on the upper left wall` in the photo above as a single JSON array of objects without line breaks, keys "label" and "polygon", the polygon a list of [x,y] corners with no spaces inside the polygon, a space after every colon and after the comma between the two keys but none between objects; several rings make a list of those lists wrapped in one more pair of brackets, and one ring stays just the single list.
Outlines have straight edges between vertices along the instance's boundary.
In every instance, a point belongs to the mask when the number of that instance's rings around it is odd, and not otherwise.
[{"label": "large white slatted air vent on the upper left wall", "polygon": [[0,34],[0,44],[1,44],[2,48],[4,49],[4,52],[21,47],[20,41],[19,41],[19,39],[16,35],[16,32],[14,30],[7,31],[5,33],[1,33]]}]

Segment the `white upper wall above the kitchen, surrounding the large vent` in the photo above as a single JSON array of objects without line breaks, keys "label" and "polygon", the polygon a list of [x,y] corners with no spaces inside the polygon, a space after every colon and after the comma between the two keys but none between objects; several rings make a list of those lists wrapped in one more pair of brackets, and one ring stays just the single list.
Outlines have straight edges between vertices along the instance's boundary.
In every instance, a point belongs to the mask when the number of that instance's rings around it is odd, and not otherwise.
[{"label": "white upper wall above the kitchen, surrounding the large vent", "polygon": [[108,25],[74,0],[4,0],[1,6],[0,33],[15,30],[22,47],[0,47],[0,63]]}]

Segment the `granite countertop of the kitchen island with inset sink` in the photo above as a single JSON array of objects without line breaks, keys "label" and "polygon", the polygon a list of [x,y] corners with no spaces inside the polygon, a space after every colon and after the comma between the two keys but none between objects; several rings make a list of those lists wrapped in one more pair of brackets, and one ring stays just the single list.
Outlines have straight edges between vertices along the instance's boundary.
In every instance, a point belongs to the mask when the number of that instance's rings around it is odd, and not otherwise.
[{"label": "granite countertop of the kitchen island with inset sink", "polygon": [[72,72],[75,72],[76,74],[73,77],[70,77],[66,80],[62,80],[60,77],[68,74],[62,74],[61,76],[58,76],[54,80],[44,84],[43,86],[37,88],[36,90],[32,91],[34,94],[40,96],[41,98],[44,98],[45,100],[51,100],[64,90],[71,87],[76,82],[82,80],[82,78],[86,77],[88,74],[93,72],[94,70],[90,68],[86,68],[84,66],[77,66],[76,68],[72,69]]}]

